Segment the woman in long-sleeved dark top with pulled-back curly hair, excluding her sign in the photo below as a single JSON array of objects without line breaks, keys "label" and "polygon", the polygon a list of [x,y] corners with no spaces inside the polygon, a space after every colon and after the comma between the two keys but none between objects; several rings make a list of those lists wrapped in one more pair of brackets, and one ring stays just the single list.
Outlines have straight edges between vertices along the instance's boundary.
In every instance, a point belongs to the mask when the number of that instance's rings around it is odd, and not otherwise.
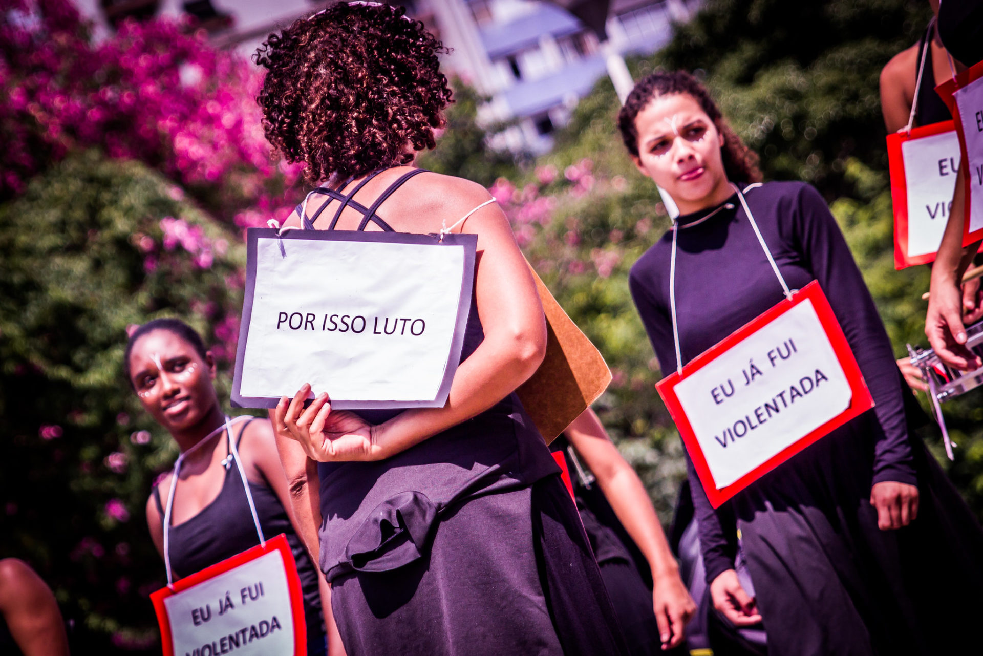
[{"label": "woman in long-sleeved dark top with pulled-back curly hair, excluding her sign", "polygon": [[[777,267],[791,289],[820,282],[876,403],[716,510],[688,461],[716,609],[735,626],[763,622],[778,656],[970,651],[978,605],[943,601],[983,585],[983,531],[909,430],[911,394],[826,202],[801,182],[762,184],[686,73],[639,82],[618,127],[682,212],[629,276],[662,370],[779,303]],[[738,542],[753,590],[735,572]]]}]

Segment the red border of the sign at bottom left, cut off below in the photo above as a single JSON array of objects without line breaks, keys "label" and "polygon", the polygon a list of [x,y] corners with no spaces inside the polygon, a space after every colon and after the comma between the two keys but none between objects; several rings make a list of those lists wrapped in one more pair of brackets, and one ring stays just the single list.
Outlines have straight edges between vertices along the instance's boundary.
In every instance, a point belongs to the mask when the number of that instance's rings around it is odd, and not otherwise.
[{"label": "red border of the sign at bottom left, cut off below", "polygon": [[290,610],[294,622],[294,656],[307,656],[307,623],[304,618],[304,596],[301,590],[301,578],[297,573],[297,563],[294,561],[293,552],[290,551],[290,543],[287,542],[287,536],[284,533],[280,533],[276,537],[266,540],[265,546],[257,545],[221,563],[205,567],[201,571],[196,571],[193,574],[174,581],[173,590],[163,587],[150,593],[150,601],[153,602],[153,610],[157,614],[157,624],[160,625],[160,642],[163,645],[163,656],[174,656],[174,638],[171,636],[171,623],[167,617],[167,610],[164,608],[165,599],[192,588],[209,578],[224,574],[226,571],[255,561],[261,556],[271,554],[275,551],[280,552],[280,556],[283,558],[283,567],[287,572],[287,591],[290,594]]}]

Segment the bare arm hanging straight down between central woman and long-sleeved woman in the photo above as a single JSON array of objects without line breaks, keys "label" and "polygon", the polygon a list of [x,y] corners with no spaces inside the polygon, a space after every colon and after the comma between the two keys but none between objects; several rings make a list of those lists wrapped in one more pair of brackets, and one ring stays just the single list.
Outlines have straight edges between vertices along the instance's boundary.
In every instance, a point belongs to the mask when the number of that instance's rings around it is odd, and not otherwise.
[{"label": "bare arm hanging straight down between central woman and long-sleeved woman", "polygon": [[679,646],[685,638],[686,623],[696,612],[696,604],[679,577],[679,567],[649,493],[607,437],[594,410],[588,408],[582,412],[564,434],[594,472],[614,514],[648,560],[655,582],[653,605],[660,638],[667,648]]}]

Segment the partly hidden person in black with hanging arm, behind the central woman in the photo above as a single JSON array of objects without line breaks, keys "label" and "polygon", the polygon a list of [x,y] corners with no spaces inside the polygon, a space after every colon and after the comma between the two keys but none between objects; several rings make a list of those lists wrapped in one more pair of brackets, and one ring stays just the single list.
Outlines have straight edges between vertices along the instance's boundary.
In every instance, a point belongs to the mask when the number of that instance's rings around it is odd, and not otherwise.
[{"label": "partly hidden person in black with hanging arm, behind the central woman", "polygon": [[[566,457],[580,518],[628,652],[657,654],[684,644],[696,605],[679,577],[649,493],[598,415],[588,408],[549,447]],[[580,466],[581,457],[590,473]],[[632,552],[644,562],[638,564]]]}]

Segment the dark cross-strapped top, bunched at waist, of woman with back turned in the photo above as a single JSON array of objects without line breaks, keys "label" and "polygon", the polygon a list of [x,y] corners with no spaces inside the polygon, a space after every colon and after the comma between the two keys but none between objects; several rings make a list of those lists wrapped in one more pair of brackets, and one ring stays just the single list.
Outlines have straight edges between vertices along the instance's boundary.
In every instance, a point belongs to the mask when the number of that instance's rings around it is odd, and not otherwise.
[{"label": "dark cross-strapped top, bunched at waist, of woman with back turned", "polygon": [[[342,210],[349,207],[363,214],[359,230],[372,221],[393,232],[376,209],[403,183],[426,171],[417,168],[403,174],[366,208],[353,197],[380,172],[368,175],[349,194],[327,188],[312,192],[330,200],[310,218],[303,205],[298,207],[304,228],[313,229],[318,216],[337,200],[340,207],[328,229],[334,229]],[[340,189],[351,182],[347,180]],[[474,353],[484,338],[472,295],[461,360]],[[378,424],[400,412],[359,410],[358,414]],[[475,496],[517,490],[558,471],[546,442],[514,392],[477,417],[385,460],[321,462],[320,568],[333,581],[355,571],[407,565],[428,552],[430,536],[445,512]]]}]

